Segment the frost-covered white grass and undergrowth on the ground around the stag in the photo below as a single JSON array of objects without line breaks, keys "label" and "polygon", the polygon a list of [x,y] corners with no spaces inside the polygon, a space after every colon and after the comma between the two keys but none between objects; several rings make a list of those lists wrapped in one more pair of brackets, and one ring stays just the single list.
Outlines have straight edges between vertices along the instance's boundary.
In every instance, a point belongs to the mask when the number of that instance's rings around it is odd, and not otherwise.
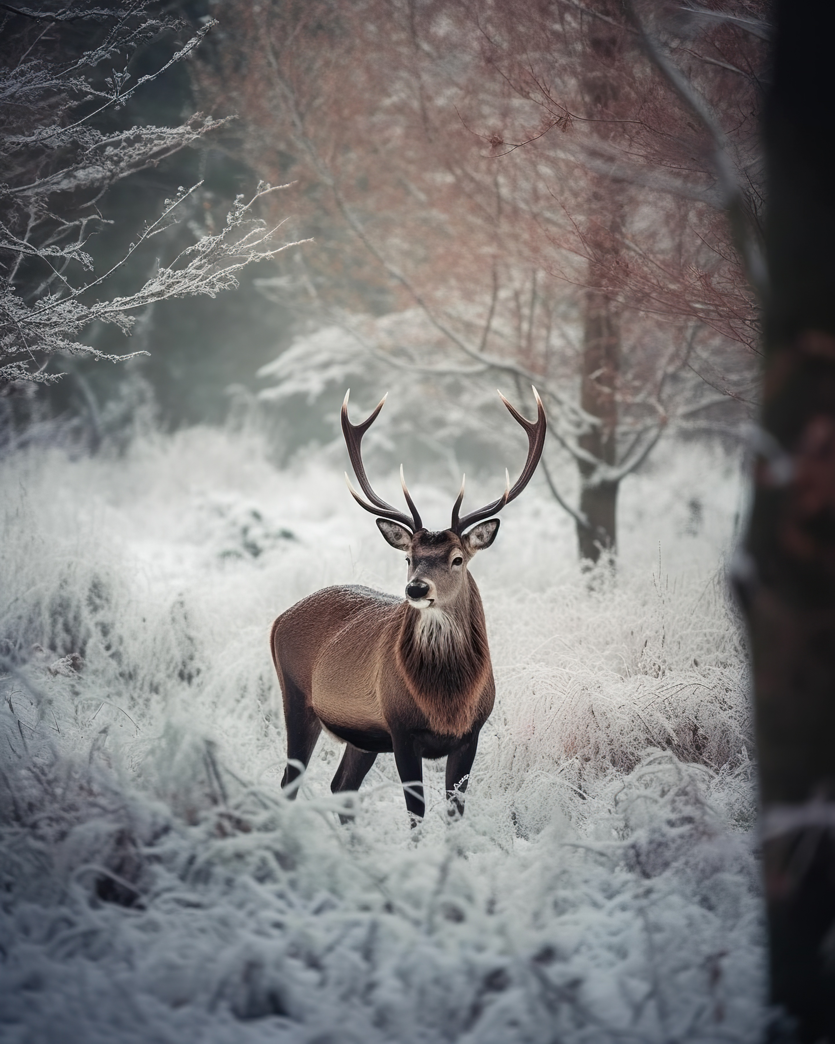
[{"label": "frost-covered white grass and undergrowth on the ground around the stag", "polygon": [[[624,483],[614,579],[580,574],[540,488],[508,506],[472,567],[498,702],[467,814],[448,825],[427,763],[414,832],[390,756],[351,826],[329,738],[300,800],[279,789],[271,620],[404,577],[327,457],[280,473],[195,429],[21,454],[0,489],[3,1041],[758,1039],[720,454]],[[446,524],[450,491],[413,492]]]}]

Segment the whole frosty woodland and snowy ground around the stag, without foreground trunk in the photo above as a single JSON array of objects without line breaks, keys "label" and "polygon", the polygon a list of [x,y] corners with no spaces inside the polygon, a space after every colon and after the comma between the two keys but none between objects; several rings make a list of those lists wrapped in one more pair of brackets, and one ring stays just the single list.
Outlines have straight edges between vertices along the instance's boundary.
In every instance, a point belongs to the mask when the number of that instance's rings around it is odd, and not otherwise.
[{"label": "whole frosty woodland and snowy ground around the stag, without foreground trunk", "polygon": [[[0,14],[0,1036],[758,1040],[762,5],[175,7]],[[467,815],[287,802],[272,619],[405,575],[345,388],[442,528],[531,382]]]}]

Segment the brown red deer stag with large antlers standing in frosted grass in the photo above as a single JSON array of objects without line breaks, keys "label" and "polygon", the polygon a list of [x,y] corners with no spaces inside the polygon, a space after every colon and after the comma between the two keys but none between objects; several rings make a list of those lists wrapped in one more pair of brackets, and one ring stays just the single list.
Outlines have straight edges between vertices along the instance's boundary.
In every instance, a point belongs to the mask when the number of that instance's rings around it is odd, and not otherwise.
[{"label": "brown red deer stag with large antlers standing in frosted grass", "polygon": [[365,587],[325,588],[296,602],[272,624],[270,646],[287,722],[283,787],[299,777],[300,765],[307,767],[324,727],[345,742],[331,783],[334,793],[358,789],[377,755],[393,751],[413,826],[425,808],[422,759],[446,755],[449,812],[463,812],[478,734],[496,692],[484,611],[467,567],[476,551],[496,539],[499,520],[490,516],[519,496],[542,456],[545,410],[535,388],[533,394],[538,407],[533,422],[502,396],[528,436],[528,458],[519,480],[511,488],[505,471],[501,497],[463,518],[458,514],[461,482],[452,523],[443,532],[424,528],[402,467],[411,518],[374,492],[360,444],[385,397],[366,421],[354,425],[348,419],[345,395],[342,432],[368,503],[348,475],[345,481],[360,507],[377,516],[385,540],[406,552],[406,600]]}]

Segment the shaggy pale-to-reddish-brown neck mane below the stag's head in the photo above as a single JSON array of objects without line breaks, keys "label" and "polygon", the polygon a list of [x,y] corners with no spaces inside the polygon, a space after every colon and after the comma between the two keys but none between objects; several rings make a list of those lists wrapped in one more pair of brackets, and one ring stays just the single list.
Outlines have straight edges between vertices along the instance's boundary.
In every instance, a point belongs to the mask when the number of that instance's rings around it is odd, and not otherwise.
[{"label": "shaggy pale-to-reddish-brown neck mane below the stag's head", "polygon": [[466,735],[491,669],[484,611],[469,573],[461,596],[447,609],[405,607],[397,660],[430,729],[440,735]]}]

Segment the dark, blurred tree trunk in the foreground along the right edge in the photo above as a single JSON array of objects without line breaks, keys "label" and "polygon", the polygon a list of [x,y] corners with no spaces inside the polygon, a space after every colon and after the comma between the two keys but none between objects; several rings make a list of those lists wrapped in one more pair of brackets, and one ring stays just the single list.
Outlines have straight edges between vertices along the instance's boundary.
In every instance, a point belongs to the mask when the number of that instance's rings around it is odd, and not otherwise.
[{"label": "dark, blurred tree trunk in the foreground along the right edge", "polygon": [[754,657],[771,1000],[835,1041],[835,4],[780,0],[763,431],[738,583]]}]

